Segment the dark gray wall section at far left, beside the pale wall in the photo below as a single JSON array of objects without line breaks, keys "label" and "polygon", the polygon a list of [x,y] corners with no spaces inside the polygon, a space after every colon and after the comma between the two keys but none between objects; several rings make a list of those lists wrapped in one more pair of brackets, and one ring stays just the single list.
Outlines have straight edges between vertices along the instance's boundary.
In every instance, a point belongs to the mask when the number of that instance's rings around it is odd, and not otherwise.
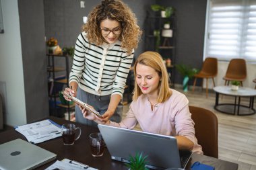
[{"label": "dark gray wall section at far left, beside the pale wall", "polygon": [[[44,42],[44,4],[19,0],[27,123],[49,116]],[[19,85],[19,82],[17,82]]]}]

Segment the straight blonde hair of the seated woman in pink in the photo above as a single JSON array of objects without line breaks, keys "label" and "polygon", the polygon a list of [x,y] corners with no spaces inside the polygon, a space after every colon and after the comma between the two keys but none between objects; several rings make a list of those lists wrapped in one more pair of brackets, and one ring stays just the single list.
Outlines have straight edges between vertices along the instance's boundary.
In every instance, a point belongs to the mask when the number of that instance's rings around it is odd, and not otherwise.
[{"label": "straight blonde hair of the seated woman in pink", "polygon": [[[134,77],[136,77],[137,64],[145,65],[154,69],[158,75],[160,76],[160,82],[158,84],[158,103],[163,103],[166,101],[171,95],[172,91],[169,88],[169,77],[162,60],[162,56],[158,52],[146,51],[139,55],[134,65]],[[137,81],[135,78],[134,91],[133,91],[133,100],[137,100],[137,98],[143,94],[139,85],[137,85]]]}]

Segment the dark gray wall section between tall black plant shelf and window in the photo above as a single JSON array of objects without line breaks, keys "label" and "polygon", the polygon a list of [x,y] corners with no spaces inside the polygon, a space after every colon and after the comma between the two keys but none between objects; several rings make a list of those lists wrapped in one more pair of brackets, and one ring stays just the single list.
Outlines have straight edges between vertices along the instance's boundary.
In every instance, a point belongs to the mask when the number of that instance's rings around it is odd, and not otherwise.
[{"label": "dark gray wall section between tall black plant shelf and window", "polygon": [[[176,9],[176,63],[200,69],[203,64],[206,0],[160,0],[160,5]],[[182,77],[175,71],[175,83]],[[192,81],[190,81],[190,84]],[[200,82],[198,82],[200,83]]]}]

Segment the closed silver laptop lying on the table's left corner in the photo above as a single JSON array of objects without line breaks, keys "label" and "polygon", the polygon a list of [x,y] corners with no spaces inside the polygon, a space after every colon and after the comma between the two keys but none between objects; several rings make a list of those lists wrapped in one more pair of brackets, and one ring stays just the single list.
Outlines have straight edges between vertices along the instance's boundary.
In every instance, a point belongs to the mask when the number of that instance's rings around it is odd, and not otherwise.
[{"label": "closed silver laptop lying on the table's left corner", "polygon": [[53,161],[57,155],[20,138],[0,144],[0,169],[34,169]]}]

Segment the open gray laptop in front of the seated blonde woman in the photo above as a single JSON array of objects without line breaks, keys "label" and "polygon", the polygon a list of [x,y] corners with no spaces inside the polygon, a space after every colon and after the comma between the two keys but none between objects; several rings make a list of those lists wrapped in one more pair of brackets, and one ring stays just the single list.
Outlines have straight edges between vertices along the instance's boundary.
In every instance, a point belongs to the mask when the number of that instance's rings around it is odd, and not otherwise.
[{"label": "open gray laptop in front of the seated blonde woman", "polygon": [[[129,163],[129,156],[136,152],[148,155],[146,167],[150,169],[184,168],[191,158],[191,151],[179,151],[173,136],[152,134],[137,130],[98,124],[111,159]],[[180,157],[181,156],[181,157]]]}]

